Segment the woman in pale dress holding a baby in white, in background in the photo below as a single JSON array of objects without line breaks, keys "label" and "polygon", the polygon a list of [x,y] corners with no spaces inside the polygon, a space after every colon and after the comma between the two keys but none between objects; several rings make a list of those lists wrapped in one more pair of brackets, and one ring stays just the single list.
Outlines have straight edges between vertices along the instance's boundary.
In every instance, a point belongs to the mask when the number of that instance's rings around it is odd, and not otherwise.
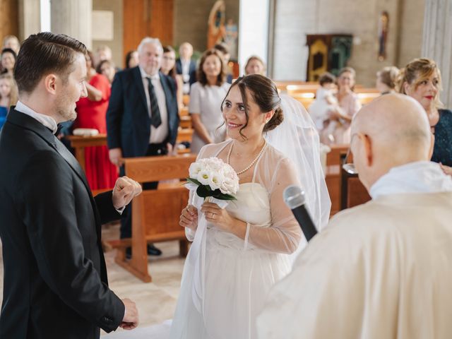
[{"label": "woman in pale dress holding a baby in white, in background", "polygon": [[[334,129],[331,133],[321,138],[322,141],[328,139],[328,143],[350,143],[350,121],[361,108],[361,103],[357,95],[353,92],[355,88],[355,70],[351,67],[344,67],[338,76],[338,109],[330,110],[327,125],[335,121]],[[322,133],[323,134],[323,133]]]}]

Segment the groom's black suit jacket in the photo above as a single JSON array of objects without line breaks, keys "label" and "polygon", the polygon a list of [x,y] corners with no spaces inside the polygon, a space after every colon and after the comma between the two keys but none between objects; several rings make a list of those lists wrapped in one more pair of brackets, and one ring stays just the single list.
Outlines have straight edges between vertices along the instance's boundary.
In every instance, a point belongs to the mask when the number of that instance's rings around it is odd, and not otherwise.
[{"label": "groom's black suit jacket", "polygon": [[107,287],[100,227],[119,218],[93,198],[77,160],[37,120],[11,109],[0,133],[0,338],[99,338],[124,304]]}]

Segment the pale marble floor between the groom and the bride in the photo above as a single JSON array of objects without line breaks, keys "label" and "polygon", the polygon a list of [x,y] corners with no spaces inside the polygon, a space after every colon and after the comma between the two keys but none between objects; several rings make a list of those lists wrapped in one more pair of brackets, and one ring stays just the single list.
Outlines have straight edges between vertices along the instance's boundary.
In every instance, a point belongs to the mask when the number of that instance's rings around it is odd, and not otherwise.
[{"label": "pale marble floor between the groom and the bride", "polygon": [[[118,239],[119,224],[107,225],[102,229],[102,239]],[[163,323],[172,319],[179,295],[184,258],[179,257],[179,242],[156,244],[162,256],[149,256],[148,269],[152,283],[143,283],[116,263],[116,250],[105,253],[109,287],[121,298],[136,302],[140,316],[140,328]],[[0,293],[3,291],[3,257],[0,251]],[[1,301],[1,294],[0,294]],[[122,331],[121,328],[117,332]],[[137,330],[136,330],[137,331]],[[133,331],[132,331],[133,332]],[[105,335],[105,333],[102,333]],[[108,339],[110,335],[103,338]],[[103,339],[102,338],[102,339]]]}]

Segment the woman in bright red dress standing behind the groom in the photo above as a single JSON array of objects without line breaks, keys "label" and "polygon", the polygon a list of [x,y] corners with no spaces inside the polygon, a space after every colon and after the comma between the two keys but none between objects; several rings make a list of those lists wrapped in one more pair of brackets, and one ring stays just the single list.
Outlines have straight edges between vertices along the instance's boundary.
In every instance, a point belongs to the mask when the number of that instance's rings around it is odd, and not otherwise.
[{"label": "woman in bright red dress standing behind the groom", "polygon": [[[86,56],[88,72],[86,89],[88,97],[82,97],[77,102],[77,119],[74,129],[97,129],[100,134],[107,133],[108,100],[110,83],[105,76],[97,74],[91,61],[92,54]],[[85,148],[85,174],[91,189],[111,189],[118,178],[118,169],[108,157],[107,146]]]}]

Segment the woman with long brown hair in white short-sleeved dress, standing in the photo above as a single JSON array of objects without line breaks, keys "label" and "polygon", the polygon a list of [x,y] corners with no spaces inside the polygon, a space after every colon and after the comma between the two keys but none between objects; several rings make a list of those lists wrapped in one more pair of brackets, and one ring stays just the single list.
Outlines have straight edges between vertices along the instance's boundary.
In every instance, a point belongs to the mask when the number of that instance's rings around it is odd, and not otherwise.
[{"label": "woman with long brown hair in white short-sleeved dress, standing", "polygon": [[208,49],[201,57],[198,82],[191,85],[189,113],[193,124],[191,152],[198,153],[203,145],[225,141],[226,129],[221,102],[230,87],[225,81],[222,57],[215,49]]}]

